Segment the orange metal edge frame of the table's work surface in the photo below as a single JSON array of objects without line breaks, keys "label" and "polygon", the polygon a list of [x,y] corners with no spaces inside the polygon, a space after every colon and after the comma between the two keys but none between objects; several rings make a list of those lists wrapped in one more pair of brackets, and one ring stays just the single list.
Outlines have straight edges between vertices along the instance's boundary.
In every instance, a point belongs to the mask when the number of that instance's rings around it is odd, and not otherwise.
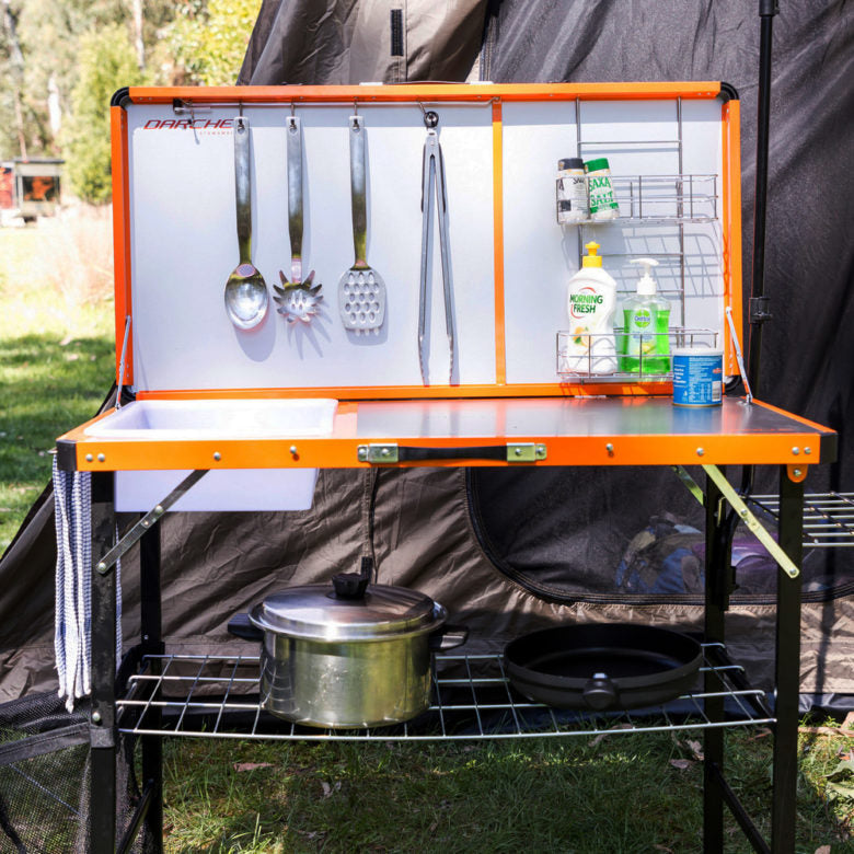
[{"label": "orange metal edge frame of the table's work surface", "polygon": [[[564,405],[561,401],[555,406]],[[596,404],[596,401],[577,401],[579,405]],[[649,401],[644,397],[626,397],[625,406],[644,407]],[[331,436],[259,439],[166,439],[134,440],[119,438],[94,438],[85,428],[105,418],[113,411],[76,427],[59,441],[74,443],[77,468],[80,471],[140,471],[148,469],[360,469],[371,463],[359,462],[358,448],[368,443],[399,442],[419,448],[463,448],[484,445],[504,446],[508,441],[543,442],[546,445],[545,460],[526,463],[528,466],[553,465],[674,465],[674,464],[782,464],[796,466],[801,473],[809,464],[829,462],[822,459],[822,437],[831,431],[785,413],[769,404],[754,401],[761,406],[784,416],[798,425],[798,431],[778,432],[696,432],[670,434],[621,434],[601,436],[513,436],[506,437],[506,427],[499,425],[493,435],[441,436],[429,438],[400,439],[359,436],[358,415],[365,402],[343,401],[338,404]],[[369,404],[367,404],[369,405]],[[451,405],[465,406],[465,401]],[[824,453],[827,457],[828,454]],[[482,466],[512,465],[485,460],[438,460],[429,462],[405,462],[391,468],[429,466]],[[800,476],[800,475],[798,475]]]}]

